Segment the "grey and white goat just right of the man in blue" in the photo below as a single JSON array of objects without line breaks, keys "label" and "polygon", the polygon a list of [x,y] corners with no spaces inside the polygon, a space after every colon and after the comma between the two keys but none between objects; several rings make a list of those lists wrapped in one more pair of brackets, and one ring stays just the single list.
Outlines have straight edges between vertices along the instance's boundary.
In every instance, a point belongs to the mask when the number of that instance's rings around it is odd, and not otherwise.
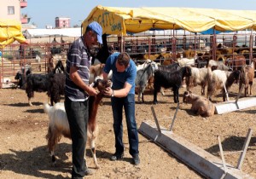
[{"label": "grey and white goat just right of the man in blue", "polygon": [[144,95],[143,92],[146,88],[146,85],[148,84],[148,79],[153,76],[154,70],[157,69],[157,65],[155,62],[152,62],[148,64],[147,67],[145,67],[142,70],[137,71],[137,77],[135,80],[135,85],[138,88],[138,101],[141,100],[142,95],[142,101],[144,102]]}]

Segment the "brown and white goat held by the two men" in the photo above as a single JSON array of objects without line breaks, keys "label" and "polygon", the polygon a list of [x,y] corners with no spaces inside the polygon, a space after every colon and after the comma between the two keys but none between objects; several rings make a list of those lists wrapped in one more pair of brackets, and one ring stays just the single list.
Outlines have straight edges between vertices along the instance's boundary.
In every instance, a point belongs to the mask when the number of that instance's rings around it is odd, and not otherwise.
[{"label": "brown and white goat held by the two men", "polygon": [[[99,107],[99,103],[102,100],[104,90],[111,85],[112,82],[110,80],[107,81],[97,79],[94,87],[97,87],[99,93],[96,96],[90,96],[89,98],[89,119],[87,125],[87,137],[88,142],[90,143],[90,150],[97,169],[99,168],[99,165],[96,159],[95,147],[95,141],[98,131],[98,126],[96,123],[96,113]],[[46,139],[48,140],[49,153],[51,155],[53,165],[56,165],[54,153],[55,145],[58,143],[58,141],[61,140],[61,136],[71,138],[64,103],[55,103],[53,107],[50,107],[49,104],[44,103],[44,113],[47,113],[49,116],[49,128]]]}]

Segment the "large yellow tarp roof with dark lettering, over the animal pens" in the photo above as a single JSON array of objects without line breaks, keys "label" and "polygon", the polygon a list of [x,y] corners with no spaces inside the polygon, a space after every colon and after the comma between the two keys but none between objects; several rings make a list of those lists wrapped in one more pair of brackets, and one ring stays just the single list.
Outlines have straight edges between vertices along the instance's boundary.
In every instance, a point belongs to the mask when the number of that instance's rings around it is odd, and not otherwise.
[{"label": "large yellow tarp roof with dark lettering, over the animal pens", "polygon": [[192,8],[113,8],[96,6],[83,21],[83,31],[93,20],[102,25],[103,33],[126,34],[149,29],[184,29],[203,32],[256,30],[256,11]]}]

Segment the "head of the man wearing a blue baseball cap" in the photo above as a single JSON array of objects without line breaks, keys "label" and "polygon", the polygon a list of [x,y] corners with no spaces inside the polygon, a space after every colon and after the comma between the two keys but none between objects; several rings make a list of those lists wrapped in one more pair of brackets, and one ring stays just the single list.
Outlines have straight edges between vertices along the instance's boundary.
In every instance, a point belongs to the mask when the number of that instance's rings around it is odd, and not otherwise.
[{"label": "head of the man wearing a blue baseball cap", "polygon": [[96,21],[91,22],[84,33],[84,40],[87,47],[92,47],[97,43],[102,44],[102,26]]}]

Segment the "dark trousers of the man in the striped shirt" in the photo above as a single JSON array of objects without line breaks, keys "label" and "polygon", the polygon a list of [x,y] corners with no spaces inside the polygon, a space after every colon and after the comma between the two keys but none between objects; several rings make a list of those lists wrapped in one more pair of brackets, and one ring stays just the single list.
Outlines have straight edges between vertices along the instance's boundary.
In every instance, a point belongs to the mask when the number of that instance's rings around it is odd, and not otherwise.
[{"label": "dark trousers of the man in the striped shirt", "polygon": [[72,177],[83,177],[87,168],[84,153],[87,140],[87,122],[89,118],[88,100],[71,101],[66,97],[64,104],[72,139]]}]

